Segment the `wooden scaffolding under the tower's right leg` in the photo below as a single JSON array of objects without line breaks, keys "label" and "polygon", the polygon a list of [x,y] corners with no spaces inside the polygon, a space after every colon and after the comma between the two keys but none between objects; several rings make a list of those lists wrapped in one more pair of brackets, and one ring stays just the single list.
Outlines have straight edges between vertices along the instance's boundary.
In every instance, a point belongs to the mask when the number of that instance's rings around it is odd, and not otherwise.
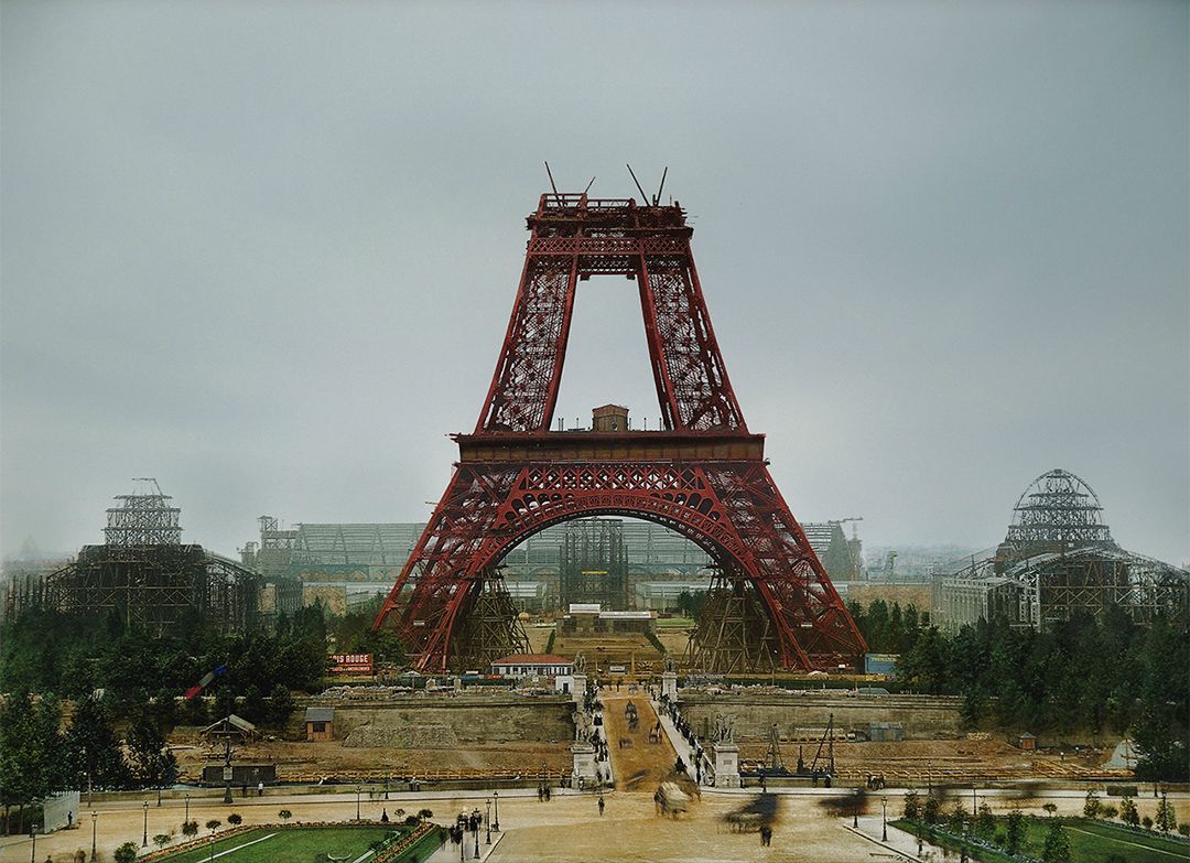
[{"label": "wooden scaffolding under the tower's right leg", "polygon": [[690,632],[685,661],[702,674],[771,674],[779,667],[777,633],[747,580],[718,570]]}]

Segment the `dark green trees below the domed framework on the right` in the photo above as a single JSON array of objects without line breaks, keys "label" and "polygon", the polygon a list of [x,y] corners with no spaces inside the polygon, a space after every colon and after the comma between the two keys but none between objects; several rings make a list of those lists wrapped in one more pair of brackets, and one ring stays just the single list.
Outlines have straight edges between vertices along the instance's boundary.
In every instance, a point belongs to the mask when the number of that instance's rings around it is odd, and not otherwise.
[{"label": "dark green trees below the domed framework on the right", "polygon": [[1042,632],[1004,618],[954,634],[912,605],[851,606],[869,649],[900,653],[902,686],[960,695],[964,719],[1035,732],[1130,736],[1136,775],[1185,781],[1190,764],[1190,631],[1165,619],[1138,626],[1119,608]]}]

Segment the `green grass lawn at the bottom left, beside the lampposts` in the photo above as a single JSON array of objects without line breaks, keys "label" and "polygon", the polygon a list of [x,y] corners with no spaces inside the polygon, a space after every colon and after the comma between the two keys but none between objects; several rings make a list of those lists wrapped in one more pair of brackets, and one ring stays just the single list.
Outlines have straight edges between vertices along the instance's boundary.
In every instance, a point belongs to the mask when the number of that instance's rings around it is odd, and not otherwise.
[{"label": "green grass lawn at the bottom left, beside the lampposts", "polygon": [[[388,833],[408,827],[290,827],[250,830],[226,839],[215,834],[212,845],[168,857],[169,863],[201,863],[212,852],[223,863],[326,863],[330,855],[352,863],[369,845]],[[437,845],[437,840],[434,842]],[[221,855],[221,856],[220,856]]]}]

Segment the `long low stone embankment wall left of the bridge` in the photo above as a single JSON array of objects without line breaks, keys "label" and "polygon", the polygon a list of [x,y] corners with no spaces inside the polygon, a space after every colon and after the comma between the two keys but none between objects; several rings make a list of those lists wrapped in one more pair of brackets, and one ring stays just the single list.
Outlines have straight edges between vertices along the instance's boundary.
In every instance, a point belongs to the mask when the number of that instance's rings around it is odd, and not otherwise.
[{"label": "long low stone embankment wall left of the bridge", "polygon": [[565,696],[512,694],[394,695],[383,700],[311,699],[334,708],[334,739],[345,746],[451,749],[480,743],[574,739]]}]

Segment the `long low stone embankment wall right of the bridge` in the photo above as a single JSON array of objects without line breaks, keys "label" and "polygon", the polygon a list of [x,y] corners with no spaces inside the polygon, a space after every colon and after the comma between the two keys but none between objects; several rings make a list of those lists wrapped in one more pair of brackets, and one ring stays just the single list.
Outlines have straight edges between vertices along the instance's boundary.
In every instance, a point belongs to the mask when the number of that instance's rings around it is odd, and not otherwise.
[{"label": "long low stone embankment wall right of the bridge", "polygon": [[679,690],[682,712],[700,734],[714,726],[715,714],[735,720],[735,736],[768,737],[776,723],[784,739],[821,736],[831,714],[841,734],[868,730],[869,723],[900,723],[906,739],[954,737],[960,733],[959,699],[934,695],[847,695],[838,692],[701,693]]}]

